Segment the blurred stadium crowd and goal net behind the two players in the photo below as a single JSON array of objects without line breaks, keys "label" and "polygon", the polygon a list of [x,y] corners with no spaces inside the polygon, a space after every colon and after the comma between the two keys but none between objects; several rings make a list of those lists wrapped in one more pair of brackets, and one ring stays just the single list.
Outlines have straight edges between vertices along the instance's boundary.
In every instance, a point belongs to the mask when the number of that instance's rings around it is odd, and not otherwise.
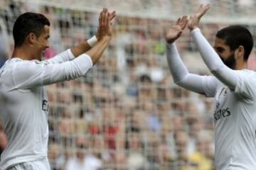
[{"label": "blurred stadium crowd and goal net behind the two players", "polygon": [[[85,77],[47,87],[48,157],[54,170],[214,170],[213,98],[174,84],[164,35],[178,16],[211,4],[201,30],[246,26],[254,0],[0,0],[0,67],[14,49],[12,27],[26,11],[51,22],[46,59],[91,38],[102,7],[117,11],[114,35]],[[188,30],[176,42],[191,72],[209,74]],[[255,50],[249,68],[256,69]],[[0,128],[0,153],[8,140]]]}]

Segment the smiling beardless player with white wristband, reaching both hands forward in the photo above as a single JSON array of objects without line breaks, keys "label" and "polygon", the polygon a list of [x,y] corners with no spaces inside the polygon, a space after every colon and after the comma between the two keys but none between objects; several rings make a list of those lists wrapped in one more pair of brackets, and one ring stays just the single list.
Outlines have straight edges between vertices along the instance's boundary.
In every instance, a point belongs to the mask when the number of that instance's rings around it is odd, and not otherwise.
[{"label": "smiling beardless player with white wristband, reaching both hands forward", "polygon": [[97,38],[45,61],[41,61],[41,55],[48,47],[50,22],[40,13],[18,16],[13,55],[0,69],[0,120],[8,138],[1,154],[1,170],[50,169],[44,86],[80,77],[99,60],[110,43],[114,16],[103,8]]}]

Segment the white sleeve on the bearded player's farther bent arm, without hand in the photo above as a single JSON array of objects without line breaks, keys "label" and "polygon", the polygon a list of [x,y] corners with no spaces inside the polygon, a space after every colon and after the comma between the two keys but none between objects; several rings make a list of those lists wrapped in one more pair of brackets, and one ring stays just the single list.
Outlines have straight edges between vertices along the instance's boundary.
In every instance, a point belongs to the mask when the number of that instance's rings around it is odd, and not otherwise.
[{"label": "white sleeve on the bearded player's farther bent arm, without hand", "polygon": [[213,76],[200,76],[191,74],[183,64],[178,55],[176,45],[167,44],[167,62],[174,82],[185,89],[194,91],[198,94],[204,94],[207,97],[214,97],[217,89],[218,80]]}]

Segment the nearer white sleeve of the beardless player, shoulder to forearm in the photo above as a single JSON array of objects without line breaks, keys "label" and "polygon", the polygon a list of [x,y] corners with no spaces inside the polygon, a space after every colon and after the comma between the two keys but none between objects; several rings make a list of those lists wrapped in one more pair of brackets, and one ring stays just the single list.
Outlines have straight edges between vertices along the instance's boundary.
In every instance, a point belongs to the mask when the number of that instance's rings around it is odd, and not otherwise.
[{"label": "nearer white sleeve of the beardless player, shoulder to forearm", "polygon": [[69,62],[23,61],[16,64],[13,72],[14,89],[30,89],[35,86],[53,84],[84,75],[91,67],[89,55],[80,55]]}]

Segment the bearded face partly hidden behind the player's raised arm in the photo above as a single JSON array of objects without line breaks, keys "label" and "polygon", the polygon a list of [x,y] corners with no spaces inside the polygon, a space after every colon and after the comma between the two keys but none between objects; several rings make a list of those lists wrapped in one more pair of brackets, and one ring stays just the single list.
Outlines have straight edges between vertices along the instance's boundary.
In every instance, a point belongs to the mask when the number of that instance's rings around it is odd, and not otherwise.
[{"label": "bearded face partly hidden behind the player's raised arm", "polygon": [[226,66],[235,69],[235,52],[230,50],[230,47],[225,44],[225,40],[215,38],[214,49]]}]

